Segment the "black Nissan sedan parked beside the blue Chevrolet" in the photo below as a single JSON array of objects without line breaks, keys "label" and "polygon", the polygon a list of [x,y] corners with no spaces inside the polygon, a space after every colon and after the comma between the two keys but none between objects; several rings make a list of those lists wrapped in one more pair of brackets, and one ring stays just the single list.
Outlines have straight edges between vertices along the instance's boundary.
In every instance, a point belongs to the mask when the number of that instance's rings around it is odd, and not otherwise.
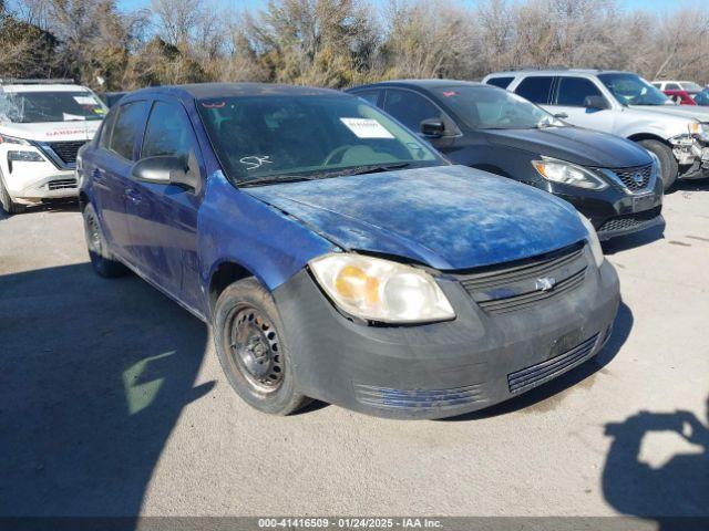
[{"label": "black Nissan sedan parked beside the blue Chevrolet", "polygon": [[480,83],[391,81],[347,92],[420,132],[455,164],[566,199],[602,240],[665,223],[657,159],[633,142],[571,126],[564,116]]}]

